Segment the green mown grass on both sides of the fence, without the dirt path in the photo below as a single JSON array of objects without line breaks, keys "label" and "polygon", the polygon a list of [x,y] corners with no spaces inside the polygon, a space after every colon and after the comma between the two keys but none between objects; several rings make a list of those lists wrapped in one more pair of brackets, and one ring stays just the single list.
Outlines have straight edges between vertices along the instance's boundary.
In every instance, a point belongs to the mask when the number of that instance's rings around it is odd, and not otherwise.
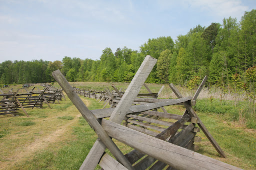
[{"label": "green mown grass on both sides of the fence, without the dirt path", "polygon": [[[98,101],[94,99],[85,97],[81,97],[81,99],[88,101],[88,108],[90,110],[102,109],[103,107],[103,102],[98,103]],[[50,104],[52,109],[49,109],[44,105],[43,109],[34,108],[28,110],[28,115],[30,116],[29,118],[26,118],[25,115],[23,115],[19,117],[5,118],[4,120],[6,121],[0,120],[0,135],[4,135],[0,139],[0,142],[5,140],[5,138],[8,136],[15,135],[17,136],[16,139],[6,141],[6,146],[10,145],[8,142],[14,141],[11,143],[11,146],[15,149],[20,148],[22,143],[33,143],[34,136],[44,136],[41,131],[54,132],[61,129],[61,125],[74,121],[74,124],[72,124],[72,127],[70,127],[68,133],[63,135],[63,140],[50,143],[50,145],[43,148],[42,150],[38,150],[32,155],[25,157],[23,160],[21,159],[19,162],[16,162],[13,167],[9,169],[6,168],[7,170],[79,169],[85,157],[89,153],[90,148],[93,146],[95,140],[97,139],[97,136],[95,132],[90,128],[88,123],[84,120],[84,118],[81,116],[77,118],[75,115],[69,115],[73,112],[78,113],[77,109],[73,106],[69,99],[67,99],[67,101],[61,101],[60,103],[60,105]],[[202,101],[201,104],[200,101],[197,101],[196,106],[197,105],[203,109],[206,106],[204,107],[201,105],[209,105],[209,101]],[[217,104],[212,105],[217,106]],[[231,107],[231,105],[228,105],[228,107]],[[182,115],[184,112],[184,108],[181,105],[168,106],[165,108],[168,113]],[[233,121],[234,118],[230,119],[232,118],[231,115],[233,113],[228,109],[226,110],[227,111],[225,112],[216,114],[217,109],[214,108],[212,108],[210,111],[205,111],[207,113],[199,112],[199,109],[197,109],[197,114],[208,131],[212,134],[213,138],[220,145],[221,149],[227,155],[227,159],[219,158],[218,153],[215,151],[215,149],[212,147],[202,132],[197,133],[197,136],[202,138],[202,142],[196,143],[196,145],[199,146],[199,150],[197,152],[227,164],[242,168],[244,170],[255,170],[256,160],[254,158],[256,156],[256,132],[253,130],[248,130],[243,126],[238,126],[237,123]],[[70,116],[73,118],[73,120],[60,121],[56,119],[58,117],[64,116]],[[33,121],[36,124],[32,127],[16,126],[16,123],[25,121]],[[32,129],[40,125],[43,125],[41,126],[43,130],[40,129],[35,131]],[[51,130],[52,127],[48,127],[51,125],[54,125],[54,130]],[[6,128],[7,131],[1,133]],[[23,140],[25,137],[29,137],[29,139]],[[114,142],[123,153],[127,153],[131,150],[130,147],[127,147],[124,144],[117,142],[116,140],[114,140]],[[106,150],[106,152],[109,153],[108,150]],[[9,152],[6,151],[5,154],[8,155]],[[2,161],[4,160],[0,157],[0,162]],[[99,167],[96,169],[99,169]]]}]

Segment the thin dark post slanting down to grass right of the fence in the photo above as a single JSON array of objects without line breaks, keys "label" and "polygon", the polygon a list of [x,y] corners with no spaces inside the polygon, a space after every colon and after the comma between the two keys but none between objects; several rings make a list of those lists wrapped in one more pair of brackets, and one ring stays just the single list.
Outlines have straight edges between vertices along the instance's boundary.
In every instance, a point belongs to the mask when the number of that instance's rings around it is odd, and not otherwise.
[{"label": "thin dark post slanting down to grass right of the fence", "polygon": [[[169,84],[169,87],[171,88],[171,90],[175,93],[175,95],[178,98],[181,98],[182,95],[180,94],[180,92],[178,91],[178,89],[171,83]],[[196,115],[196,113],[193,111],[192,107],[187,104],[186,102],[184,102],[184,107],[186,108],[186,110],[188,111],[188,113],[192,116],[197,118],[198,120],[198,126],[200,127],[200,129],[202,130],[202,132],[205,134],[205,136],[208,138],[208,140],[210,141],[210,143],[213,145],[213,147],[216,149],[216,151],[219,153],[219,155],[222,158],[226,158],[224,152],[221,150],[221,148],[219,147],[219,145],[217,144],[217,142],[214,140],[214,138],[211,136],[211,134],[208,132],[207,128],[203,125],[202,121],[200,120],[200,118]]]}]

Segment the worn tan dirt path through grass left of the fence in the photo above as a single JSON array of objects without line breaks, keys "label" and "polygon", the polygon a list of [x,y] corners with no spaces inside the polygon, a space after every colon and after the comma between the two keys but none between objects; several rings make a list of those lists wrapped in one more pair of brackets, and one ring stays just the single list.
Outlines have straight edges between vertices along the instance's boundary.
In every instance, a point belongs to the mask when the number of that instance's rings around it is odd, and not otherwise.
[{"label": "worn tan dirt path through grass left of the fence", "polygon": [[[89,101],[85,99],[82,99],[82,101],[86,106],[90,104]],[[28,159],[36,151],[42,151],[44,148],[47,148],[48,146],[53,145],[54,143],[67,140],[68,137],[71,136],[72,126],[78,123],[78,119],[81,116],[81,114],[78,112],[74,105],[68,107],[66,110],[72,113],[72,116],[74,117],[72,120],[68,120],[65,124],[59,126],[55,131],[50,132],[47,135],[36,137],[32,143],[20,146],[18,150],[14,151],[14,154],[12,152],[7,157],[4,157],[4,162],[0,162],[0,169],[11,170],[11,167],[15,163]],[[47,121],[47,119],[45,121]]]}]

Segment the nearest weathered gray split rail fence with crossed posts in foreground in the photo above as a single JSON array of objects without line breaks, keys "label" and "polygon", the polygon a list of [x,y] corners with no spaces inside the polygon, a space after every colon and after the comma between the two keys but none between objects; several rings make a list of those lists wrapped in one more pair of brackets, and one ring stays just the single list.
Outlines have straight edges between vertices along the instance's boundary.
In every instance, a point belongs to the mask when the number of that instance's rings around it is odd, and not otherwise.
[{"label": "nearest weathered gray split rail fence with crossed posts in foreground", "polygon": [[[154,97],[150,99],[138,97],[155,63],[156,59],[147,55],[125,92],[115,91],[119,92],[120,99],[108,94],[112,98],[112,107],[98,110],[89,110],[85,106],[59,70],[52,72],[98,136],[80,170],[94,170],[97,165],[103,170],[240,170],[193,151],[194,142],[199,140],[196,133],[200,128],[220,157],[226,157],[192,109],[206,77],[193,97],[181,96],[173,84],[169,87],[178,99],[157,99],[157,95],[152,95]],[[108,102],[109,96],[106,97]],[[170,105],[183,105],[186,110],[182,116],[170,114],[164,109],[164,106]],[[158,108],[163,112],[158,112]],[[104,119],[107,117],[108,120]],[[112,138],[134,150],[123,155]],[[115,159],[104,152],[106,148]]]}]

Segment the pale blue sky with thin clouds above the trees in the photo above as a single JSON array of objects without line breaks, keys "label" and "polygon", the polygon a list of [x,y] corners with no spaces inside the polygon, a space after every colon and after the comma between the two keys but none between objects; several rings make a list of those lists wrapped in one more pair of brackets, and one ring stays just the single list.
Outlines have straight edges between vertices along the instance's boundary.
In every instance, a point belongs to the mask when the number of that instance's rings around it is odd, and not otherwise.
[{"label": "pale blue sky with thin clouds above the trees", "polygon": [[0,0],[0,63],[99,59],[102,50],[139,50],[150,38],[186,34],[223,18],[240,21],[256,0]]}]

